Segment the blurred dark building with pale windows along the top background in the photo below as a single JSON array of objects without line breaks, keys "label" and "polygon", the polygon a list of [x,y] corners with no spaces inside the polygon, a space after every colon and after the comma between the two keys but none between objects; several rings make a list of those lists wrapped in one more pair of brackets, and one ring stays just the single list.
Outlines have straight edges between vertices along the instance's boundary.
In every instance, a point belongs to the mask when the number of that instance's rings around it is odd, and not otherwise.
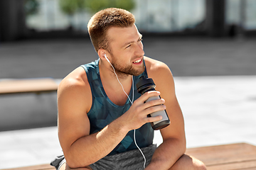
[{"label": "blurred dark building with pale windows along the top background", "polygon": [[[68,16],[60,0],[34,0],[36,13],[26,14],[28,0],[0,1],[0,41],[16,40],[61,31],[87,35],[92,13],[79,11]],[[139,0],[132,10],[143,33],[235,36],[256,30],[256,0]],[[68,34],[69,35],[69,34]],[[72,34],[73,35],[73,34]]]}]

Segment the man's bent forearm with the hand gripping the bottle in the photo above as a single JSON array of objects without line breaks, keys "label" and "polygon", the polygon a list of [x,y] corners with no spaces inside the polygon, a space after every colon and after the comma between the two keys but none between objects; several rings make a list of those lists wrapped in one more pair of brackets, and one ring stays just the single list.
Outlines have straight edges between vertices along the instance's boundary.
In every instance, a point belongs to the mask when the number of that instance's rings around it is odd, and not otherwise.
[{"label": "man's bent forearm with the hand gripping the bottle", "polygon": [[[80,138],[75,138],[75,142],[72,141],[70,145],[63,145],[68,166],[77,168],[97,162],[109,154],[124,139],[129,130],[138,129],[145,123],[161,120],[161,116],[147,117],[152,112],[165,109],[164,101],[161,99],[144,103],[151,96],[159,96],[159,92],[149,91],[139,97],[127,112],[100,132],[92,135],[88,135],[89,132],[83,133]],[[68,140],[67,138],[64,138],[63,141]]]}]

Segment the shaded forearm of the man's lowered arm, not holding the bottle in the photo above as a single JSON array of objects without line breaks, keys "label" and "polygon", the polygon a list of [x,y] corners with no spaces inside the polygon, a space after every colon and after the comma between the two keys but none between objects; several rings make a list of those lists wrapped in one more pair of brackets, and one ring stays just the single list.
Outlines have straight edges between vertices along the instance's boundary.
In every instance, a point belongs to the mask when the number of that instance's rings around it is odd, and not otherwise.
[{"label": "shaded forearm of the man's lowered arm, not holding the bottle", "polygon": [[185,151],[185,140],[177,140],[174,138],[165,140],[157,147],[151,159],[151,163],[149,166],[146,166],[146,170],[170,169]]}]

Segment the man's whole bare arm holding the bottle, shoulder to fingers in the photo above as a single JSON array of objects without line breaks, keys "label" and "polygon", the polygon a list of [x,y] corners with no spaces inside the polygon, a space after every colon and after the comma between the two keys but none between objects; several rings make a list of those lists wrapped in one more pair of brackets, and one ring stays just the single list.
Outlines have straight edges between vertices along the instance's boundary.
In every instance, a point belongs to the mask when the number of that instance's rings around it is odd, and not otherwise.
[{"label": "man's whole bare arm holding the bottle, shoulder to fingers", "polygon": [[163,101],[144,104],[146,98],[158,95],[156,91],[144,94],[134,101],[124,115],[100,132],[90,135],[90,121],[87,117],[92,105],[90,85],[82,68],[69,74],[58,89],[58,135],[68,166],[78,168],[97,162],[109,154],[129,130],[160,120],[159,117],[147,118],[146,115],[163,110],[163,106],[157,106]]}]

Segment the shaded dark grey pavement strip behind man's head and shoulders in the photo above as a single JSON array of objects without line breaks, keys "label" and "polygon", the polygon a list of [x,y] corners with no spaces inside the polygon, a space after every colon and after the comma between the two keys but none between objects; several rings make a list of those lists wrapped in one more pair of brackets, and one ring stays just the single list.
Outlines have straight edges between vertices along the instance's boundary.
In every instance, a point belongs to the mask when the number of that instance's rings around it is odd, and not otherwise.
[{"label": "shaded dark grey pavement strip behind man's head and shoulders", "polygon": [[[256,75],[256,39],[143,37],[145,56],[166,63],[175,77]],[[24,40],[0,44],[0,79],[63,79],[97,60],[90,39]]]}]

